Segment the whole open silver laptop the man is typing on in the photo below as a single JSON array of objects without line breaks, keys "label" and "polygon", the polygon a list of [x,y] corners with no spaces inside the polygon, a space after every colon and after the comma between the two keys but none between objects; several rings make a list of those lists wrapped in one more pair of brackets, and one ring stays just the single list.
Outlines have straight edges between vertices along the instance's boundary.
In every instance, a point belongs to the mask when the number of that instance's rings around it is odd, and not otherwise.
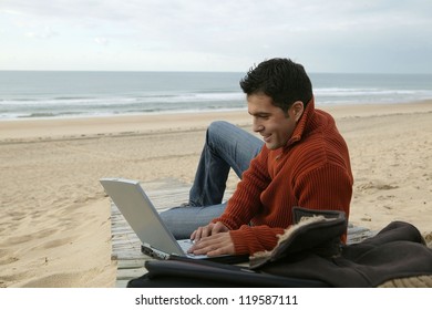
[{"label": "whole open silver laptop the man is typing on", "polygon": [[142,242],[142,251],[157,259],[207,259],[235,264],[247,261],[248,256],[193,255],[187,250],[193,240],[176,240],[161,219],[156,208],[144,193],[138,180],[125,178],[101,178],[105,193],[114,202],[128,225]]}]

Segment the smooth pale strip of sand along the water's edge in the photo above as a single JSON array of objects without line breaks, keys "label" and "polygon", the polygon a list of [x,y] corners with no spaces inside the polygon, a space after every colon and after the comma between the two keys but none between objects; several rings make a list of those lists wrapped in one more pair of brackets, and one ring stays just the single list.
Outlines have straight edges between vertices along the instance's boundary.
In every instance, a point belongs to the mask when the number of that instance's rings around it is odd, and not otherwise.
[{"label": "smooth pale strip of sand along the water's edge", "polygon": [[[411,112],[422,113],[432,111],[432,99],[410,103],[328,105],[318,106],[317,108],[329,112],[335,118],[392,115]],[[191,123],[191,118],[193,118],[193,123]],[[209,122],[215,120],[225,120],[239,126],[250,125],[251,122],[246,110],[73,118],[7,120],[0,121],[0,142],[131,134],[138,132],[161,133],[165,131],[203,130],[206,128]]]}]

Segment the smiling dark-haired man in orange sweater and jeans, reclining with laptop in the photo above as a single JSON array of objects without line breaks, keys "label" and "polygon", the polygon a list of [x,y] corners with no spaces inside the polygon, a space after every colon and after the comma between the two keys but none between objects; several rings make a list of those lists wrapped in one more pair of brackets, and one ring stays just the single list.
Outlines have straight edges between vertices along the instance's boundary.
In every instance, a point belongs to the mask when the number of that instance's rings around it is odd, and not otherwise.
[{"label": "smiling dark-haired man in orange sweater and jeans, reclining with laptop", "polygon": [[[335,120],[315,108],[302,65],[287,59],[265,61],[240,86],[264,145],[234,125],[213,123],[189,206],[162,214],[178,238],[196,229],[189,250],[196,255],[271,250],[278,235],[294,224],[295,206],[341,210],[349,217],[353,178],[348,147]],[[241,180],[222,204],[230,167]]]}]

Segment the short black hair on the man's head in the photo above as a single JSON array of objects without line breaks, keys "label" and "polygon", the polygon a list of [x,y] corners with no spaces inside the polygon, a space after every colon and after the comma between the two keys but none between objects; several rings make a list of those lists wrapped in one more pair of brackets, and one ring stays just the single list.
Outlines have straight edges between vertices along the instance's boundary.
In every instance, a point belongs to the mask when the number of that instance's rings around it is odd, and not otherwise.
[{"label": "short black hair on the man's head", "polygon": [[289,59],[270,59],[251,68],[240,81],[247,95],[264,93],[284,112],[296,101],[304,106],[312,99],[312,84],[305,68]]}]

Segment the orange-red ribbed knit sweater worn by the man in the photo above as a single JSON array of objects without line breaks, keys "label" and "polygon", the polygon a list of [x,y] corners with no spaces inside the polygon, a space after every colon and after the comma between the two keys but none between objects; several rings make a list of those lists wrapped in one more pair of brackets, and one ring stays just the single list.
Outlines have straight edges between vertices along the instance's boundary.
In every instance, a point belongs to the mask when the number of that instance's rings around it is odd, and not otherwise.
[{"label": "orange-red ribbed knit sweater worn by the man", "polygon": [[230,229],[237,255],[271,250],[294,224],[295,206],[342,210],[348,220],[352,184],[347,144],[331,115],[311,100],[287,145],[275,151],[264,145],[213,223]]}]

